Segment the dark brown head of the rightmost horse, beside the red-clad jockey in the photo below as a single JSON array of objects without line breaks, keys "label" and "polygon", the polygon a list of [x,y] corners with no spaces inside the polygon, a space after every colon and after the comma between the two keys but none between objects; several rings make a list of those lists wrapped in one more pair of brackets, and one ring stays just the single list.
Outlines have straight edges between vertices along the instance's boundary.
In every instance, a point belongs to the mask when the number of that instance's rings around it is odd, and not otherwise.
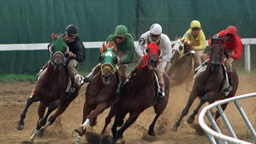
[{"label": "dark brown head of the rightmost horse, beside the red-clad jockey", "polygon": [[219,37],[211,37],[211,45],[210,45],[210,64],[213,70],[216,70],[219,65],[223,63],[223,55],[224,55],[224,47],[223,47],[224,39],[220,39]]}]

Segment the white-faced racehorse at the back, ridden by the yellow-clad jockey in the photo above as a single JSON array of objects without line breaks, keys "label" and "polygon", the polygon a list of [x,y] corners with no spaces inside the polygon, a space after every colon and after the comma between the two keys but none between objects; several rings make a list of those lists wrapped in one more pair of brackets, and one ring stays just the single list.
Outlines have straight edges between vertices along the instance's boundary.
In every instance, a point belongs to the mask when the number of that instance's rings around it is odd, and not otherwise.
[{"label": "white-faced racehorse at the back, ridden by the yellow-clad jockey", "polygon": [[[185,90],[189,90],[189,82],[194,76],[194,52],[192,49],[193,43],[185,39],[174,41],[172,47],[171,66],[166,71],[170,78],[170,87],[178,86],[185,83]],[[208,58],[208,55],[203,53],[201,62],[203,63]]]}]

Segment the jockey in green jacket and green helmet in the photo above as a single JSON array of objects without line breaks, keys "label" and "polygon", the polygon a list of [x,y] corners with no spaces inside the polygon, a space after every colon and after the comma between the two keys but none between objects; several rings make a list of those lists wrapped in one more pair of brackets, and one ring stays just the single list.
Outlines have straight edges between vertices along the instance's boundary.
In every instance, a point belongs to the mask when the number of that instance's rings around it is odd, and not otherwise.
[{"label": "jockey in green jacket and green helmet", "polygon": [[[119,25],[115,28],[114,34],[110,34],[107,37],[108,42],[115,42],[117,46],[117,57],[118,60],[118,69],[121,75],[121,82],[124,82],[126,79],[127,64],[133,60],[134,57],[134,43],[131,34],[127,33],[127,28],[124,25]],[[90,82],[95,74],[100,70],[100,64],[96,65],[94,69],[85,77],[84,82]]]}]

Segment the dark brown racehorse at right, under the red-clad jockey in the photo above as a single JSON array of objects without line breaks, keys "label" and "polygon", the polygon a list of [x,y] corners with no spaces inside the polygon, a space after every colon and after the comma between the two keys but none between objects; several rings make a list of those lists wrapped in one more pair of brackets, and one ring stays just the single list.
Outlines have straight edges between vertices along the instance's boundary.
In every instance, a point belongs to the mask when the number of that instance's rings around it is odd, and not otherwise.
[{"label": "dark brown racehorse at right, under the red-clad jockey", "polygon": [[[193,90],[190,92],[189,99],[187,105],[183,109],[181,116],[179,117],[178,121],[174,124],[171,130],[177,132],[177,129],[182,121],[182,118],[186,116],[189,112],[189,108],[193,104],[196,97],[200,98],[200,103],[197,108],[194,110],[193,114],[191,114],[187,122],[189,124],[194,122],[195,115],[198,114],[199,109],[202,107],[203,104],[208,102],[209,104],[217,101],[222,100],[230,97],[234,97],[237,86],[238,86],[238,76],[236,70],[232,69],[232,87],[233,90],[229,92],[226,96],[225,93],[222,91],[223,84],[225,82],[225,68],[223,66],[223,55],[224,55],[224,48],[223,48],[223,39],[213,39],[211,37],[211,45],[210,45],[210,60],[207,62],[207,66],[205,71],[201,71],[198,73],[198,76],[195,77],[195,82],[193,85]],[[228,103],[223,104],[221,107],[223,111],[226,109]],[[219,112],[216,111],[215,120],[219,117]]]}]

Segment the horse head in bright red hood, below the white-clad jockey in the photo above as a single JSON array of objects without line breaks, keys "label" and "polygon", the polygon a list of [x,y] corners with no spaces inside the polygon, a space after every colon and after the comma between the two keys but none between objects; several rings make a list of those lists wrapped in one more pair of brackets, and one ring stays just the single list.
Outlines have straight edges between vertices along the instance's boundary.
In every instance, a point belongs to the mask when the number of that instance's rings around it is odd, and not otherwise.
[{"label": "horse head in bright red hood, below the white-clad jockey", "polygon": [[144,49],[143,62],[148,66],[149,70],[155,70],[160,63],[161,51],[156,43],[149,43]]}]

